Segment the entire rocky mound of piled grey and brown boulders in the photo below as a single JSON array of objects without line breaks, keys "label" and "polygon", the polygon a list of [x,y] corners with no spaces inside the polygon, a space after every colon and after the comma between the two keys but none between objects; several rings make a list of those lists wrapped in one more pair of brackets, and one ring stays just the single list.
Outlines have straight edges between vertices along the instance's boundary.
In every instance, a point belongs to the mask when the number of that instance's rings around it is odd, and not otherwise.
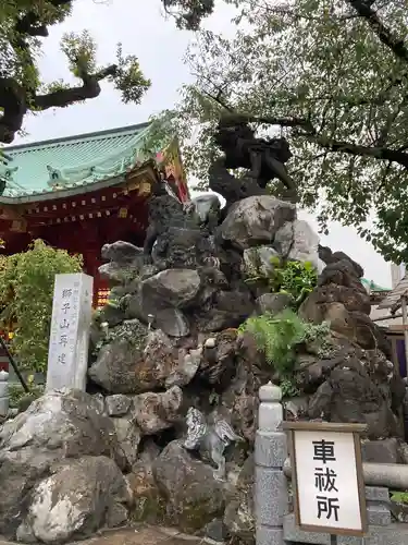
[{"label": "entire rocky mound of piled grey and brown boulders", "polygon": [[[361,267],[319,246],[293,204],[256,194],[221,210],[209,195],[183,208],[160,193],[150,208],[144,249],[102,249],[112,291],[91,329],[94,395],[50,392],[1,428],[0,532],[12,538],[62,543],[148,521],[252,543],[258,389],[270,379],[289,383],[288,417],[398,435],[405,389]],[[297,299],[274,291],[290,263],[320,272]],[[287,326],[288,308],[304,334],[293,360],[273,360],[279,335],[260,330],[262,344],[240,326]],[[325,322],[323,338],[306,335]]]}]

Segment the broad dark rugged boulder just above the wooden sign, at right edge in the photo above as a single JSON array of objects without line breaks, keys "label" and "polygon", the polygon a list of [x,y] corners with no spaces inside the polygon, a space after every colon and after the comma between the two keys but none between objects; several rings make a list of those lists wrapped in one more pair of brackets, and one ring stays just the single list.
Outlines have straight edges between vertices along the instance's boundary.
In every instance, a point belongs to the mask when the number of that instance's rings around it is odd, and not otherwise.
[{"label": "broad dark rugged boulder just above the wooden sign, at right edge", "polygon": [[372,439],[399,435],[405,387],[393,363],[381,350],[362,350],[337,334],[327,343],[324,359],[298,355],[294,379],[309,396],[308,416],[367,424]]}]

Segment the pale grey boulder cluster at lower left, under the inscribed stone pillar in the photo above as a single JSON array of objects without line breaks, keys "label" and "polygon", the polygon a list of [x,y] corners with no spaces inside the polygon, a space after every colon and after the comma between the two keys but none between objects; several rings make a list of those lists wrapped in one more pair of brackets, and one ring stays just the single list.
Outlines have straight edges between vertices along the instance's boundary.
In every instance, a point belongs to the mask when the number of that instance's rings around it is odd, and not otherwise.
[{"label": "pale grey boulder cluster at lower left, under the inscribed stone pillar", "polygon": [[0,533],[61,543],[127,520],[125,457],[103,402],[50,392],[0,431]]}]

